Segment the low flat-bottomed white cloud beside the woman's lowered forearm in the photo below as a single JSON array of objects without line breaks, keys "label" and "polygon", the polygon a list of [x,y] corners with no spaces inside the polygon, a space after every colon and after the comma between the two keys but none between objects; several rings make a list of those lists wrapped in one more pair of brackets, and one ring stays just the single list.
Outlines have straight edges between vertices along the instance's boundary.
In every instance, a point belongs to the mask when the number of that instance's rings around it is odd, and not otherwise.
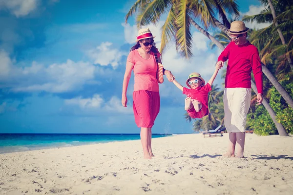
[{"label": "low flat-bottomed white cloud beside the woman's lowered forearm", "polygon": [[92,98],[72,98],[72,99],[65,99],[65,105],[76,105],[78,106],[82,112],[108,112],[108,113],[124,113],[124,114],[131,114],[132,109],[131,105],[125,108],[121,104],[121,99],[113,96],[109,99],[109,101],[105,102],[103,98],[99,94],[94,94]]}]

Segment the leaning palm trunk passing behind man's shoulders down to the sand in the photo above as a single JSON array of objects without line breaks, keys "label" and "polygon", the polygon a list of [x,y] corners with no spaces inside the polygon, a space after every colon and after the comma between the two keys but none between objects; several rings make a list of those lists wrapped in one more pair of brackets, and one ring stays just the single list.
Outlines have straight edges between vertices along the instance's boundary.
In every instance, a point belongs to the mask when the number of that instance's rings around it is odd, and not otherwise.
[{"label": "leaning palm trunk passing behind man's shoulders down to the sand", "polygon": [[[207,31],[205,31],[203,28],[201,28],[194,20],[190,20],[190,23],[192,25],[194,25],[194,27],[199,30],[201,33],[203,33],[207,38],[209,38],[215,45],[219,45],[218,47],[221,49],[221,50],[224,50],[225,47],[217,40],[215,39],[213,36],[211,36]],[[279,83],[280,84],[280,83]],[[252,87],[253,86],[253,87]],[[254,91],[255,94],[257,94],[257,90],[256,90],[256,86],[255,86],[255,83],[251,80],[251,87],[252,87],[252,90]],[[279,133],[280,136],[288,136],[284,126],[281,124],[281,123],[278,123],[275,119],[275,116],[276,114],[274,113],[274,111],[272,110],[272,107],[270,106],[270,104],[264,99],[264,106],[265,108],[267,109],[268,113],[270,114],[270,116],[272,117],[272,120],[274,121],[275,125],[276,125],[276,128],[277,128],[277,131]],[[271,113],[273,113],[271,115]]]}]

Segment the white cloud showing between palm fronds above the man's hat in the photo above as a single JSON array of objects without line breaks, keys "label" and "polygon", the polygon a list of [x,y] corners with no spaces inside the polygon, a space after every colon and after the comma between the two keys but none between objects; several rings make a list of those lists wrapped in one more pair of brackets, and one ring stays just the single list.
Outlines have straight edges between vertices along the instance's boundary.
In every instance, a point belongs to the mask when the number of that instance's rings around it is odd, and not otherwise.
[{"label": "white cloud showing between palm fronds above the man's hat", "polygon": [[[240,12],[240,16],[241,17],[243,17],[245,15],[247,15],[247,16],[253,16],[253,15],[259,14],[264,9],[265,9],[265,6],[264,5],[259,5],[259,6],[257,6],[257,5],[250,5],[249,6],[249,11],[246,12],[246,13]],[[270,26],[270,23],[257,23],[256,21],[253,21],[253,22],[245,22],[245,25],[248,28],[258,30],[258,29],[262,29],[262,28],[265,28],[265,27]]]}]

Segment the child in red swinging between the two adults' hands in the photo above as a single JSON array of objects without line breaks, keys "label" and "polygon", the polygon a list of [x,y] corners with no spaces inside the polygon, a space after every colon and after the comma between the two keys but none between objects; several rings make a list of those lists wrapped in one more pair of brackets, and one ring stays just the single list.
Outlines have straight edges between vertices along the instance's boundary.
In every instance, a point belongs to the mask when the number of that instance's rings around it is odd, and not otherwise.
[{"label": "child in red swinging between the two adults' hands", "polygon": [[215,72],[206,85],[205,80],[198,73],[191,73],[188,76],[186,84],[190,89],[183,87],[177,80],[173,80],[173,83],[183,91],[183,94],[187,95],[185,99],[185,110],[190,117],[202,118],[209,114],[208,93],[220,68],[220,65],[216,65]]}]

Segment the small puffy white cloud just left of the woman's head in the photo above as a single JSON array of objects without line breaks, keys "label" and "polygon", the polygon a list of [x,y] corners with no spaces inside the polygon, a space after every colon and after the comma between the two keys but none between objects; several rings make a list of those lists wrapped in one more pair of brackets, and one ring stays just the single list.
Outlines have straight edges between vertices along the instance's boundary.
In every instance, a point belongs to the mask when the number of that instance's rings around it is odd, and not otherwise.
[{"label": "small puffy white cloud just left of the woman's head", "polygon": [[110,64],[113,68],[116,68],[122,56],[127,55],[127,53],[121,52],[118,49],[112,49],[110,48],[111,46],[112,43],[110,42],[102,42],[100,46],[88,50],[86,54],[94,60],[95,64],[102,66]]}]

